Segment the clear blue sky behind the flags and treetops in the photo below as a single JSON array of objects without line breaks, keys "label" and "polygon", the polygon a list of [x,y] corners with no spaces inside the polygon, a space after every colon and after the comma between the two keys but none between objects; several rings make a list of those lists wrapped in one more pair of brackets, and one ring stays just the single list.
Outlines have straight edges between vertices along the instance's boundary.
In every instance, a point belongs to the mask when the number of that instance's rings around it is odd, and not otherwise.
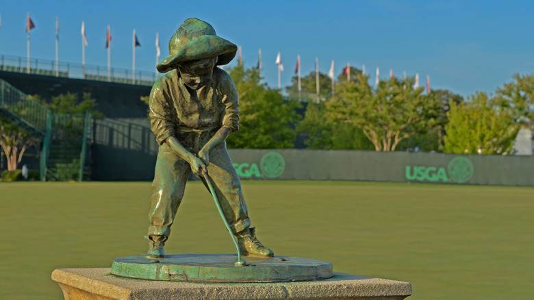
[{"label": "clear blue sky behind the flags and treetops", "polygon": [[[198,4],[202,3],[202,4]],[[242,46],[245,66],[262,49],[264,80],[277,86],[275,58],[285,67],[282,86],[301,55],[305,75],[319,58],[322,73],[350,62],[381,78],[430,75],[432,88],[461,95],[494,92],[515,73],[534,70],[534,1],[8,1],[0,5],[0,54],[25,57],[26,14],[31,58],[54,60],[55,17],[60,21],[60,61],[81,63],[81,21],[86,23],[86,63],[107,66],[105,32],[112,32],[112,66],[131,68],[132,30],[136,70],[155,68],[155,34],[163,59],[168,40],[189,17],[212,24],[219,36]],[[237,58],[231,62],[236,64]]]}]

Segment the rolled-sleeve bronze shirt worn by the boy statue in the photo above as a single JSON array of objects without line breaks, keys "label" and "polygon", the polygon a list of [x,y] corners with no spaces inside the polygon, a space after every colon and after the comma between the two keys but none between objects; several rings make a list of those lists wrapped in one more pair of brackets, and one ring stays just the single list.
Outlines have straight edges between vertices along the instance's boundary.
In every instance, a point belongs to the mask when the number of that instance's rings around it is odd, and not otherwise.
[{"label": "rolled-sleeve bronze shirt worn by the boy statue", "polygon": [[[198,92],[198,95],[197,95]],[[151,129],[158,144],[175,136],[186,149],[198,152],[220,127],[239,129],[238,92],[230,75],[216,67],[212,80],[191,90],[177,70],[157,79],[150,95]]]}]

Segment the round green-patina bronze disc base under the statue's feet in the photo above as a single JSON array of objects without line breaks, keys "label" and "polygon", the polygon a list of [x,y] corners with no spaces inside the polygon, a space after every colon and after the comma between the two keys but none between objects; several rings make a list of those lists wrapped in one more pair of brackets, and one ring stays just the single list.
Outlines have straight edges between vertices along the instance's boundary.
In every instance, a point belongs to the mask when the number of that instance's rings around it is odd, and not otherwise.
[{"label": "round green-patina bronze disc base under the statue's feet", "polygon": [[332,264],[322,260],[275,256],[247,258],[234,266],[235,254],[171,254],[151,260],[144,255],[116,258],[111,273],[173,282],[300,282],[333,276]]}]

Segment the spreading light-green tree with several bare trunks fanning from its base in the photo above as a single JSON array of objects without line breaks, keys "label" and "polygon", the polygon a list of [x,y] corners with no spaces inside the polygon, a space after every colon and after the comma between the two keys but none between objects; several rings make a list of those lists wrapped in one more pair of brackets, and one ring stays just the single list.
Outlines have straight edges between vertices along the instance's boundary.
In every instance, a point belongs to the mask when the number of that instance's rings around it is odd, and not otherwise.
[{"label": "spreading light-green tree with several bare trunks fanning from its base", "polygon": [[390,78],[376,89],[368,75],[357,81],[341,82],[327,108],[335,121],[360,127],[376,151],[394,151],[401,140],[436,124],[439,105],[433,95],[414,89],[413,78]]}]

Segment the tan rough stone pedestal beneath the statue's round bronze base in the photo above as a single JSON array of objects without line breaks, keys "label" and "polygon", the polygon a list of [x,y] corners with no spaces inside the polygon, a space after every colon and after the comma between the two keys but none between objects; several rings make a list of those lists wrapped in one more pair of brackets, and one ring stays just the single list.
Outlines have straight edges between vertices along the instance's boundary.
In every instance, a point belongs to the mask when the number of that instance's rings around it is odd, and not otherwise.
[{"label": "tan rough stone pedestal beneath the statue's round bronze base", "polygon": [[53,271],[66,300],[71,299],[405,299],[411,284],[334,273],[314,282],[199,284],[118,277],[110,268]]}]

